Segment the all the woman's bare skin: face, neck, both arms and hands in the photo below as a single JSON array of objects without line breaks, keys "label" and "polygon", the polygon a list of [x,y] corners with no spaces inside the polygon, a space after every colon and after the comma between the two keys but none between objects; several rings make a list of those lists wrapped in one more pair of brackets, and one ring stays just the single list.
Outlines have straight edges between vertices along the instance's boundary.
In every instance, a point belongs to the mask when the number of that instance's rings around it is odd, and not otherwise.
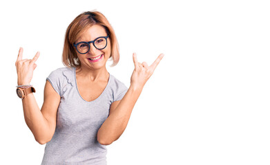
[{"label": "all the woman's bare skin: face, neck, both arms and hands", "polygon": [[[106,31],[100,25],[93,25],[81,35],[78,42],[93,41],[99,36],[107,36]],[[108,45],[104,50],[97,50],[93,46],[93,43],[91,43],[90,50],[87,54],[79,54],[77,52],[77,56],[81,62],[81,67],[76,68],[77,87],[79,94],[86,101],[92,101],[99,97],[108,83],[109,74],[106,69],[106,62],[110,57],[110,39],[108,38],[107,41]],[[15,63],[18,74],[18,85],[29,85],[32,80],[33,71],[37,67],[35,62],[39,58],[39,52],[31,60],[22,59],[22,55],[23,49],[20,48]],[[95,58],[99,55],[102,55],[99,61],[93,62],[88,60],[88,58]],[[100,144],[111,144],[122,135],[128,124],[135,102],[163,56],[163,54],[160,54],[155,62],[148,66],[145,62],[139,63],[136,54],[133,54],[135,69],[131,76],[131,85],[122,100],[115,101],[110,105],[108,118],[97,132],[97,140]],[[44,89],[44,104],[41,110],[39,110],[33,94],[28,94],[22,100],[26,124],[39,144],[49,142],[55,133],[57,109],[60,99],[59,94],[57,94],[47,81]]]}]

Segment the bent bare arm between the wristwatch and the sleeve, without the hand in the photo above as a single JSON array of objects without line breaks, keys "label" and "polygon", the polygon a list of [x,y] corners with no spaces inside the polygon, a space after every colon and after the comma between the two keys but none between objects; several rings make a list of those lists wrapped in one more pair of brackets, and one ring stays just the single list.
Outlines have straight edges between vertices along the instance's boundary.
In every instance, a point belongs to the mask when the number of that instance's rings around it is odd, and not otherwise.
[{"label": "bent bare arm between the wristwatch and the sleeve, without the hand", "polygon": [[59,94],[57,94],[47,80],[44,89],[44,104],[41,110],[33,94],[28,94],[22,99],[22,102],[27,126],[39,144],[46,144],[55,133],[57,108],[60,102]]}]

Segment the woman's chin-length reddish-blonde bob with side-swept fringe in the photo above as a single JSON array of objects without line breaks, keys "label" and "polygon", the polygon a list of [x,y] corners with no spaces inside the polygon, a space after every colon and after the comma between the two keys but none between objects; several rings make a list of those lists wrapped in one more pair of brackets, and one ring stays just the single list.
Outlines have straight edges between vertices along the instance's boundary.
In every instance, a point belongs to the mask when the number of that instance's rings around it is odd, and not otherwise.
[{"label": "woman's chin-length reddish-blonde bob with side-swept fringe", "polygon": [[62,62],[66,67],[81,67],[81,62],[73,43],[79,39],[86,29],[93,25],[101,25],[106,30],[110,39],[110,59],[113,59],[111,66],[117,65],[119,61],[119,46],[112,26],[101,12],[83,12],[68,25],[66,30],[62,55]]}]

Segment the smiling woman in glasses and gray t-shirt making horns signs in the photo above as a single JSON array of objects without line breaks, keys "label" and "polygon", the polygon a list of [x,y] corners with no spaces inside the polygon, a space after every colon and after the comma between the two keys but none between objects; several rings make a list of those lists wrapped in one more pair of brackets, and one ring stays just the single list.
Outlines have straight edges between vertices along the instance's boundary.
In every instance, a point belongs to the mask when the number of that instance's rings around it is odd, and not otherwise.
[{"label": "smiling woman in glasses and gray t-shirt making horns signs", "polygon": [[17,94],[22,98],[26,124],[39,144],[46,144],[42,164],[106,164],[106,145],[126,129],[131,111],[163,54],[148,66],[138,63],[127,88],[106,69],[119,61],[113,28],[100,12],[84,12],[66,30],[63,63],[47,78],[44,104],[39,109],[30,86],[35,61],[16,61]]}]

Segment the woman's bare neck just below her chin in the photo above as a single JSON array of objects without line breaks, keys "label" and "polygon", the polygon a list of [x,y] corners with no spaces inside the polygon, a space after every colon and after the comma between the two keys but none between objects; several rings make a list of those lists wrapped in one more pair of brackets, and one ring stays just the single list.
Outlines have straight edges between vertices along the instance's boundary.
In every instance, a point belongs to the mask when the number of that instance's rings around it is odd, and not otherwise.
[{"label": "woman's bare neck just below her chin", "polygon": [[89,69],[87,67],[76,67],[76,75],[86,78],[90,81],[96,81],[101,79],[108,79],[108,71],[106,67],[102,67],[100,69]]}]

